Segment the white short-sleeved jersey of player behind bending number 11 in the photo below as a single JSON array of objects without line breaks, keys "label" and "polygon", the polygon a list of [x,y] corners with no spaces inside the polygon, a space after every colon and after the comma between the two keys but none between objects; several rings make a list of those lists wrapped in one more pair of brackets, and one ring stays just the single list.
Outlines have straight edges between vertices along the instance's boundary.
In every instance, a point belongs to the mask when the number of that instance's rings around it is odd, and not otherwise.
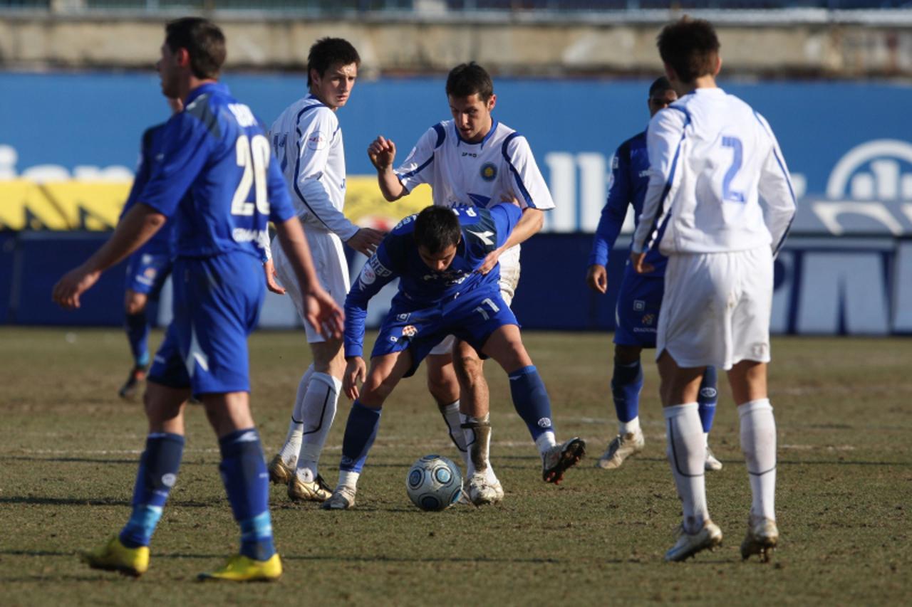
[{"label": "white short-sleeved jersey of player behind bending number 11", "polygon": [[[479,143],[462,139],[453,120],[435,124],[421,136],[396,176],[409,191],[429,184],[439,206],[488,207],[515,198],[523,209],[554,209],[529,142],[496,120]],[[518,264],[519,245],[504,252],[501,263]]]}]

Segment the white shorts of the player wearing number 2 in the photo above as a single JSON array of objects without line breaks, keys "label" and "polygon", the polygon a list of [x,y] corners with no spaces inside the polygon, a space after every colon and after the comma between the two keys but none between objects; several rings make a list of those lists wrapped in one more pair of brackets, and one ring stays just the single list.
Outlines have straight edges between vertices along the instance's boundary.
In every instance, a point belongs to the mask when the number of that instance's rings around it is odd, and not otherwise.
[{"label": "white shorts of the player wearing number 2", "polygon": [[770,362],[772,252],[685,253],[668,257],[656,357],[682,367],[731,369]]}]

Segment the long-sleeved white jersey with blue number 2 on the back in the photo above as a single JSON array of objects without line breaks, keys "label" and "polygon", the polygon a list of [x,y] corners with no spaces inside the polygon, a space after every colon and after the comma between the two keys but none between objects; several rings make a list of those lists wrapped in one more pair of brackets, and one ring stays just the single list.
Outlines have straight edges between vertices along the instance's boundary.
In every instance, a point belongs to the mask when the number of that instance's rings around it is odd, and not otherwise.
[{"label": "long-sleeved white jersey with blue number 2 on the back", "polygon": [[[649,185],[633,250],[775,254],[795,213],[770,125],[720,88],[698,88],[649,122]],[[765,212],[760,201],[765,203]]]}]

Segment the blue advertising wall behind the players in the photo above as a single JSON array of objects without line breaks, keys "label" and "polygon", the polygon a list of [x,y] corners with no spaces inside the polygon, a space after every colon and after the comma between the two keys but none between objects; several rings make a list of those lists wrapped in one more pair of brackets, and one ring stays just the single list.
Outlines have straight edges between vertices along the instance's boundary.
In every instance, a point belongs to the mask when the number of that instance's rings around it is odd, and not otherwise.
[{"label": "blue advertising wall behind the players", "polygon": [[[303,93],[299,76],[229,76],[238,98],[269,122]],[[514,308],[524,326],[609,330],[612,289],[583,278],[606,167],[624,139],[645,128],[645,80],[500,79],[495,117],[522,132],[558,203],[546,233],[523,245]],[[772,327],[793,334],[912,333],[912,87],[870,83],[722,81],[772,123],[801,197],[793,238],[776,263]],[[166,118],[151,75],[0,74],[0,180],[54,165],[131,167],[140,133]],[[440,78],[358,83],[339,112],[350,174],[370,174],[364,150],[384,134],[409,145],[448,118]],[[11,156],[8,149],[14,149]],[[84,169],[83,169],[84,170]],[[6,201],[0,200],[0,205]],[[0,231],[0,323],[120,324],[122,267],[107,273],[77,312],[50,302],[60,274],[104,232]],[[626,259],[622,236],[609,284]],[[353,258],[353,271],[363,259]],[[167,293],[160,320],[168,319]],[[382,304],[374,306],[374,321]],[[270,297],[262,324],[297,324]]]}]

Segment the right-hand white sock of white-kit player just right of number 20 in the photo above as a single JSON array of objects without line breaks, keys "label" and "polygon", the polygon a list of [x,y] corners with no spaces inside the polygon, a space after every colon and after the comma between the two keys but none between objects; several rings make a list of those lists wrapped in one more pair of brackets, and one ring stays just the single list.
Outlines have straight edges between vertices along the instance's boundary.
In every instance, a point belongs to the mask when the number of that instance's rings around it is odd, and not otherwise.
[{"label": "right-hand white sock of white-kit player just right of number 20", "polygon": [[302,482],[312,482],[317,472],[317,463],[329,428],[333,426],[336,418],[339,392],[342,391],[342,382],[336,377],[326,373],[315,373],[310,378],[307,392],[304,396],[304,433],[301,436],[301,450],[297,456],[297,470],[295,474]]}]

